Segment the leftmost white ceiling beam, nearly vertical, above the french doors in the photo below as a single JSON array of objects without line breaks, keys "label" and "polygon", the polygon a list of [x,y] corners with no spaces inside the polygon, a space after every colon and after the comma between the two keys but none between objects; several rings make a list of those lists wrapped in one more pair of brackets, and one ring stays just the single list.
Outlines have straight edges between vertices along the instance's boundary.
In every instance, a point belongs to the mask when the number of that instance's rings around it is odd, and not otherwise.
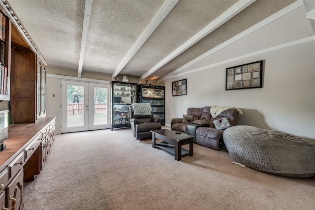
[{"label": "leftmost white ceiling beam, nearly vertical, above the french doors", "polygon": [[87,46],[90,18],[91,18],[91,12],[92,12],[92,3],[93,3],[93,0],[85,0],[85,4],[84,4],[84,17],[83,17],[82,32],[81,32],[81,46],[80,46],[78,77],[81,77],[81,74],[82,74],[84,54],[85,54],[85,48]]}]

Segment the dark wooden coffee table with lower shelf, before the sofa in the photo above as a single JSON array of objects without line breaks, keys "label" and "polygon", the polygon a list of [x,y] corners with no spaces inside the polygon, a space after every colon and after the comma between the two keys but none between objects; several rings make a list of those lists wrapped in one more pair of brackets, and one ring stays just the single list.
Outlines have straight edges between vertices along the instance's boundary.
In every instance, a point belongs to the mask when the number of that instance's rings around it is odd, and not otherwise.
[{"label": "dark wooden coffee table with lower shelf, before the sofa", "polygon": [[[193,155],[193,139],[194,136],[180,133],[173,130],[162,129],[152,131],[152,147],[165,150],[175,155],[175,160],[181,160],[182,155]],[[156,139],[162,140],[161,143],[156,143]],[[189,150],[182,148],[182,145],[189,144]]]}]

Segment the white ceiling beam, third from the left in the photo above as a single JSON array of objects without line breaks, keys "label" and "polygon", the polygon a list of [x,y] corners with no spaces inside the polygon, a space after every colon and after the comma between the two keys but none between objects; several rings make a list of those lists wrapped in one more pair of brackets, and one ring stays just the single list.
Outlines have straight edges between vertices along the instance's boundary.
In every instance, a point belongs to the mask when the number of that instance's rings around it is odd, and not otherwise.
[{"label": "white ceiling beam, third from the left", "polygon": [[200,30],[198,33],[196,33],[194,36],[192,36],[187,42],[185,42],[182,46],[177,48],[175,51],[173,51],[171,54],[169,54],[167,57],[165,57],[163,60],[158,62],[155,66],[153,66],[149,71],[147,71],[145,74],[143,74],[139,80],[143,80],[153,74],[155,71],[157,71],[160,67],[168,63],[170,60],[173,60],[175,57],[183,53],[185,50],[187,50],[189,47],[197,43],[199,40],[204,38],[206,35],[211,33],[212,31],[218,29],[221,25],[223,25],[225,22],[230,20],[232,17],[237,15],[239,12],[244,10],[246,7],[251,5],[256,0],[239,0],[237,3],[235,3],[233,6],[231,6],[228,10],[226,10],[224,13],[222,13],[218,18],[216,18],[214,21],[212,21],[208,26]]}]

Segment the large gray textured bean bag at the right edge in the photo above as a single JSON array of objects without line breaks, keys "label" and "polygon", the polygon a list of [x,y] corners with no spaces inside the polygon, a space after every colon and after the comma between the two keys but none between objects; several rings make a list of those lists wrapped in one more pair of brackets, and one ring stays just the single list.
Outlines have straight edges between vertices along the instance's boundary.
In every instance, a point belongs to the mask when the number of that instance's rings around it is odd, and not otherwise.
[{"label": "large gray textured bean bag at the right edge", "polygon": [[252,169],[285,177],[315,176],[315,141],[247,125],[227,128],[223,140],[231,158]]}]

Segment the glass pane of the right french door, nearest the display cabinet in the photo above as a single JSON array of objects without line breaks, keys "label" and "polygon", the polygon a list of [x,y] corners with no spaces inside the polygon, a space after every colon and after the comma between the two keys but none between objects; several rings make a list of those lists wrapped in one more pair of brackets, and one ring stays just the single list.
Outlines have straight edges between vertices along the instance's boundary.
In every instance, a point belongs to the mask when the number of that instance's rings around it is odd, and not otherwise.
[{"label": "glass pane of the right french door, nearest the display cabinet", "polygon": [[94,125],[107,124],[107,88],[94,87]]}]

